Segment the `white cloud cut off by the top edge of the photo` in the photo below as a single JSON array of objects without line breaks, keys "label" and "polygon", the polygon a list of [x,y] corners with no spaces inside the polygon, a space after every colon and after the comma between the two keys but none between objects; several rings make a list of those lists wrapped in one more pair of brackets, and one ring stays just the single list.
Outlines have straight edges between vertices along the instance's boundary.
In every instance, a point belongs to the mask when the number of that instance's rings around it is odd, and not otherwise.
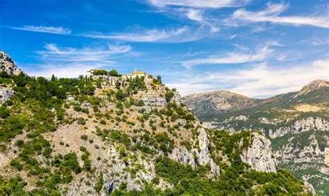
[{"label": "white cloud cut off by the top edge of the photo", "polygon": [[149,0],[149,3],[158,7],[223,8],[244,6],[248,0]]}]

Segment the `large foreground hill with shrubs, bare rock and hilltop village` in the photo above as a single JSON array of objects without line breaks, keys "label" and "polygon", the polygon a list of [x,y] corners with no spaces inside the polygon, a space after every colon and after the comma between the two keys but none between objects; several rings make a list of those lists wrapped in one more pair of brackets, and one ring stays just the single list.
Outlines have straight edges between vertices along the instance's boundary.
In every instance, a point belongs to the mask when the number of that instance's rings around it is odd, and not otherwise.
[{"label": "large foreground hill with shrubs, bare rock and hilltop village", "polygon": [[1,195],[301,195],[261,132],[205,130],[160,77],[0,73]]}]

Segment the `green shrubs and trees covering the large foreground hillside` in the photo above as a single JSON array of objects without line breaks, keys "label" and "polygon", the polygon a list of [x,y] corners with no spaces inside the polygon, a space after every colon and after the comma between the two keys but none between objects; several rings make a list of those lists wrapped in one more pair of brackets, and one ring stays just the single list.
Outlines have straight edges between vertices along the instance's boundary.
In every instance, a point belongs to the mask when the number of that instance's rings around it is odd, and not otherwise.
[{"label": "green shrubs and trees covering the large foreground hillside", "polygon": [[[118,75],[115,70],[94,73],[107,74]],[[139,172],[147,172],[149,169],[140,159],[155,160],[156,177],[150,183],[143,179],[138,182],[136,180],[136,183],[144,187],[140,192],[128,190],[128,184],[123,181],[116,185],[119,189],[116,189],[113,195],[294,195],[302,191],[301,182],[283,170],[278,169],[278,174],[266,174],[249,170],[248,165],[242,163],[239,153],[248,147],[250,132],[233,135],[223,131],[209,132],[210,140],[214,143],[209,150],[212,158],[221,167],[220,176],[212,177],[210,166],[198,165],[192,168],[169,159],[167,156],[174,150],[175,142],[185,146],[187,150],[199,148],[196,138],[200,127],[196,126],[194,114],[184,105],[172,101],[174,90],[167,89],[167,93],[162,95],[167,100],[167,107],[152,108],[146,112],[142,107],[142,100],[134,97],[136,93],[137,96],[140,94],[138,91],[148,90],[144,77],[129,80],[128,84],[117,84],[118,89],[111,91],[101,89],[106,96],[97,98],[94,91],[96,87],[101,87],[101,79],[93,80],[83,76],[58,79],[53,75],[51,80],[47,80],[41,77],[31,78],[24,74],[0,75],[0,82],[12,85],[17,92],[0,107],[0,143],[3,144],[1,150],[6,150],[6,144],[24,132],[26,136],[15,139],[14,153],[17,156],[10,160],[10,170],[24,173],[24,179],[33,179],[33,184],[28,186],[33,189],[24,190],[27,184],[21,177],[0,177],[0,193],[3,195],[65,194],[65,185],[72,183],[77,176],[93,179],[93,186],[89,181],[85,181],[85,184],[91,186],[91,192],[87,194],[101,194],[108,176],[96,169],[99,164],[106,164],[110,168],[120,161],[120,164],[124,163],[126,167],[122,174],[115,175],[120,175],[122,179],[137,179]],[[162,85],[161,77],[153,78],[153,84]],[[74,100],[67,99],[68,97],[73,97]],[[115,109],[103,112],[103,108],[108,106],[103,100],[111,102],[110,105]],[[86,102],[88,106],[84,107]],[[133,110],[139,106],[140,109]],[[72,111],[79,116],[70,116]],[[95,131],[87,127],[92,122],[100,123],[100,127],[95,127]],[[76,148],[67,148],[75,144],[65,144],[64,139],[56,140],[55,143],[47,141],[51,134],[49,132],[56,132],[58,126],[71,123],[79,125],[79,134],[75,136],[78,142],[83,143],[78,148],[80,152],[71,151]],[[112,125],[120,127],[121,124],[126,125],[129,132],[110,128]],[[180,132],[181,130],[183,132]],[[185,132],[191,134],[192,139],[183,139]],[[99,138],[95,139],[97,136]],[[237,146],[241,139],[244,139],[243,145]],[[99,140],[103,143],[96,142]],[[109,146],[115,148],[117,157],[101,157],[99,154],[99,157],[96,155],[96,160],[92,160],[95,155],[92,153],[106,150]],[[62,149],[67,150],[67,154],[58,154],[63,152]],[[228,157],[230,164],[223,163],[219,152]],[[158,154],[162,155],[158,157]],[[198,163],[196,156],[194,159]],[[79,161],[83,162],[83,166],[79,166]],[[97,165],[94,165],[94,161],[98,161]],[[164,191],[155,188],[162,179],[174,188]],[[81,182],[83,180],[81,178]],[[60,189],[61,187],[64,188]]]}]

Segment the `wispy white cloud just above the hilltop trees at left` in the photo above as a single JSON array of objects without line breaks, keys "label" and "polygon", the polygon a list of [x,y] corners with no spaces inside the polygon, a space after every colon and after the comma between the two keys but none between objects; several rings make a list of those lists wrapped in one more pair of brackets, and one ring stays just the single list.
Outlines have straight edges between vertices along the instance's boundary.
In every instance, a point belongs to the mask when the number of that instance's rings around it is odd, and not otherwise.
[{"label": "wispy white cloud just above the hilltop trees at left", "polygon": [[44,51],[36,51],[37,64],[24,69],[29,75],[50,78],[52,74],[63,78],[85,75],[89,69],[117,66],[115,59],[132,51],[129,45],[108,45],[106,48],[71,48],[46,44]]}]

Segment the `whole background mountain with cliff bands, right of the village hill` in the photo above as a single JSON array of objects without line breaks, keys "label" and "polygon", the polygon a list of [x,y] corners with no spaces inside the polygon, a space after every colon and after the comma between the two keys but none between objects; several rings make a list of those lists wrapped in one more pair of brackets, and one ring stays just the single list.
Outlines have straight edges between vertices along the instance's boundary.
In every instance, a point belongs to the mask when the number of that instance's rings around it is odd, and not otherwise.
[{"label": "whole background mountain with cliff bands, right of the village hill", "polygon": [[[317,193],[329,194],[328,80],[314,80],[301,91],[266,99],[210,91],[184,100],[210,130],[262,132],[271,140],[280,168],[310,182]],[[223,103],[234,107],[219,109]]]}]

